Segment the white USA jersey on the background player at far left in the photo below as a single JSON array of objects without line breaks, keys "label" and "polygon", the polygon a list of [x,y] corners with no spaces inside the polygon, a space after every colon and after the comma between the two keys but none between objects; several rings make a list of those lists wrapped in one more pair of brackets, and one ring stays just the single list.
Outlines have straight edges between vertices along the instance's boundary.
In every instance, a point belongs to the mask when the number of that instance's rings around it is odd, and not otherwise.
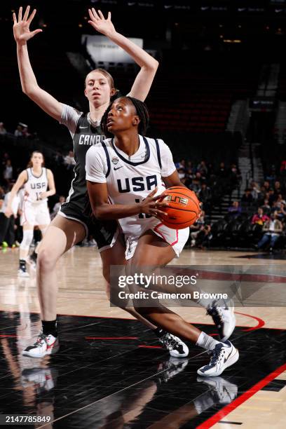
[{"label": "white USA jersey on the background player at far left", "polygon": [[47,169],[42,168],[41,176],[33,175],[32,168],[27,168],[27,182],[25,182],[25,200],[29,203],[43,203],[47,198],[40,200],[40,194],[48,189]]}]

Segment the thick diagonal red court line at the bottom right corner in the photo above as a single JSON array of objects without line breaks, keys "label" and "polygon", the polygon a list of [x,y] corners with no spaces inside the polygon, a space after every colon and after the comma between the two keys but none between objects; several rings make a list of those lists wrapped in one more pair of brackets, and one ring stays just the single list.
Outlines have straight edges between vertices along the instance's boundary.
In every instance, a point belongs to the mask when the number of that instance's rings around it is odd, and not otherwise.
[{"label": "thick diagonal red court line at the bottom right corner", "polygon": [[218,411],[214,416],[207,418],[204,423],[198,425],[196,429],[208,429],[211,428],[215,423],[219,422],[227,416],[231,411],[239,407],[243,402],[247,401],[250,397],[252,397],[255,393],[257,393],[259,390],[264,388],[270,381],[274,380],[278,375],[280,375],[282,372],[286,370],[286,364],[281,365],[275,371],[268,374],[268,376],[264,377],[264,379],[260,380],[258,383],[254,384],[252,388],[247,390],[245,393],[240,395],[236,398],[231,404],[226,405],[223,409]]}]

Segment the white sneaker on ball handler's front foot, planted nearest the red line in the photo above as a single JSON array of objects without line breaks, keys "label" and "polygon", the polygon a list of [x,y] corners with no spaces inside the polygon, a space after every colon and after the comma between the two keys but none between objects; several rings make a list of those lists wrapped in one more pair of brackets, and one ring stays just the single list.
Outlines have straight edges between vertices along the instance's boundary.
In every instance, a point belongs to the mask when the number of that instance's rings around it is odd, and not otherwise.
[{"label": "white sneaker on ball handler's front foot, planted nearest the red line", "polygon": [[219,343],[212,350],[212,358],[208,365],[198,369],[197,373],[204,377],[219,376],[224,369],[231,367],[238,361],[238,350],[231,344],[231,341]]}]

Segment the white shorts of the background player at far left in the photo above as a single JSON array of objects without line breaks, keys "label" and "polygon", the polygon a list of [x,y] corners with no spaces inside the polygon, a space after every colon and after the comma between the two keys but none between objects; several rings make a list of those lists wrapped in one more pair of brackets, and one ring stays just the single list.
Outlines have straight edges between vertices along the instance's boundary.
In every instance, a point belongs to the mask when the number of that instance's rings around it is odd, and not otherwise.
[{"label": "white shorts of the background player at far left", "polygon": [[22,206],[21,225],[24,226],[25,224],[32,226],[50,224],[50,212],[48,211],[48,204],[46,201],[43,201],[43,203],[24,201]]}]

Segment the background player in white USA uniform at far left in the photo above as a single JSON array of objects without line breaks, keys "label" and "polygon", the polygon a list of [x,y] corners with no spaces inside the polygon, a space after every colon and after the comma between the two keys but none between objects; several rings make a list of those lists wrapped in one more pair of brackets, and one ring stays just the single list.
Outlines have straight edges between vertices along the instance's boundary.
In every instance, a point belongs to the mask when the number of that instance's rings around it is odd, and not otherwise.
[{"label": "background player in white USA uniform at far left", "polygon": [[[22,204],[21,225],[23,239],[20,244],[20,262],[18,275],[29,277],[27,272],[27,257],[34,236],[34,226],[39,226],[42,236],[50,224],[48,197],[55,194],[53,173],[43,167],[43,154],[39,151],[32,153],[28,168],[23,170],[11,190],[6,216],[12,212],[13,199],[24,185],[25,197]],[[48,190],[47,190],[48,189]]]}]

